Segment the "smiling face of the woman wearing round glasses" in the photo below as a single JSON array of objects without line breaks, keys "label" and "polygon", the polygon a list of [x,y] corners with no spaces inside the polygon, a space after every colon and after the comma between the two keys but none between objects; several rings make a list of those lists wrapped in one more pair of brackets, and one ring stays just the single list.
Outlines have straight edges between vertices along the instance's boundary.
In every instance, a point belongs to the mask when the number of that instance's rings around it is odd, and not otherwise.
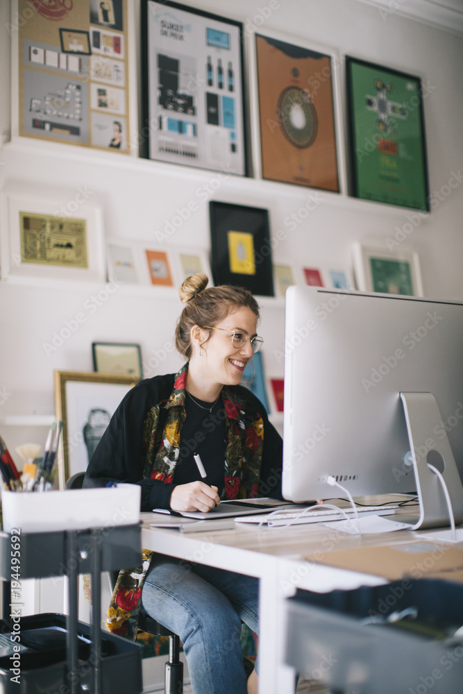
[{"label": "smiling face of the woman wearing round glasses", "polygon": [[[252,359],[254,350],[251,338],[257,332],[257,316],[248,307],[239,307],[219,321],[214,328],[220,330],[203,330],[200,344],[205,354],[199,357],[203,366],[204,377],[208,384],[237,385],[242,378],[246,364]],[[241,332],[248,339],[240,348],[232,344],[232,332]],[[208,333],[211,333],[208,339]],[[203,341],[203,340],[207,341]]]}]

